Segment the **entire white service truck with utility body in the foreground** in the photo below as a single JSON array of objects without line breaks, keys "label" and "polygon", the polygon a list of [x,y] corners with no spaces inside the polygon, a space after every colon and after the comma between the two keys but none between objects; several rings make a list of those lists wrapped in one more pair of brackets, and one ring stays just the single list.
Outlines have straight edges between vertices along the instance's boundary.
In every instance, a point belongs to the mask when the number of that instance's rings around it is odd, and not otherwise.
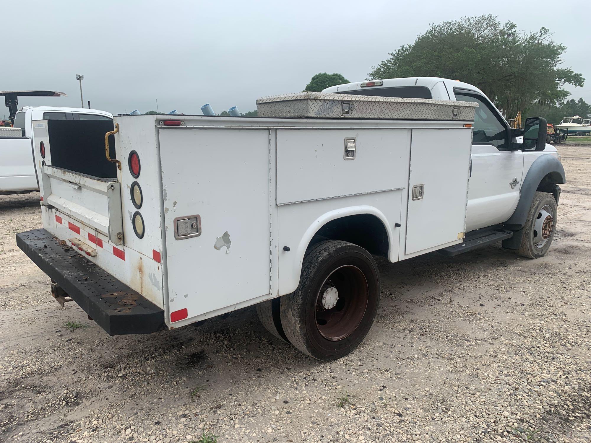
[{"label": "entire white service truck with utility body in the foreground", "polygon": [[[433,98],[445,82],[470,100]],[[116,116],[109,132],[39,120],[43,229],[17,244],[62,305],[73,299],[111,335],[256,304],[272,334],[323,360],[371,328],[374,256],[501,240],[546,252],[564,171],[544,119],[510,129],[478,89],[441,79],[338,88],[264,97],[258,118]]]}]

